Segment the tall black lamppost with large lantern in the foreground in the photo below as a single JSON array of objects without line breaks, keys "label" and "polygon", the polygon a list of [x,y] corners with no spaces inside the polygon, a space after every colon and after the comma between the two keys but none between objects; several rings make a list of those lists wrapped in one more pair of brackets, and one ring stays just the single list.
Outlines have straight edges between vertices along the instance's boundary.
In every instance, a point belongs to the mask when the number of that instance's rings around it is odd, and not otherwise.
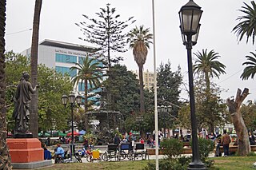
[{"label": "tall black lamppost with large lantern in the foreground", "polygon": [[201,7],[198,6],[193,0],[182,6],[179,11],[179,19],[181,22],[181,32],[183,45],[186,45],[187,49],[187,61],[189,72],[189,86],[190,86],[190,117],[192,128],[192,162],[188,169],[205,169],[204,164],[200,160],[198,152],[198,136],[197,136],[197,121],[195,117],[195,105],[194,105],[194,83],[193,83],[193,71],[192,71],[192,46],[197,43],[198,33],[200,29],[200,19],[202,15]]}]

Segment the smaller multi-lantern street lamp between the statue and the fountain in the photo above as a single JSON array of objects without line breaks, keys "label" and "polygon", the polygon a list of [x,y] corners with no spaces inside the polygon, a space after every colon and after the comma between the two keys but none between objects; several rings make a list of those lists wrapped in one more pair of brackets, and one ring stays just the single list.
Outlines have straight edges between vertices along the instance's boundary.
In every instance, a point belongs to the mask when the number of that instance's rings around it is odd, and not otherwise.
[{"label": "smaller multi-lantern street lamp between the statue and the fountain", "polygon": [[75,106],[75,103],[79,105],[82,104],[82,96],[78,95],[77,97],[75,97],[74,93],[71,93],[69,96],[66,96],[65,94],[62,96],[62,104],[67,105],[67,101],[70,102],[70,108],[71,108],[71,122],[72,122],[72,136],[71,136],[71,144],[70,144],[70,160],[72,161],[72,157],[74,155],[74,113],[73,113],[73,109]]}]

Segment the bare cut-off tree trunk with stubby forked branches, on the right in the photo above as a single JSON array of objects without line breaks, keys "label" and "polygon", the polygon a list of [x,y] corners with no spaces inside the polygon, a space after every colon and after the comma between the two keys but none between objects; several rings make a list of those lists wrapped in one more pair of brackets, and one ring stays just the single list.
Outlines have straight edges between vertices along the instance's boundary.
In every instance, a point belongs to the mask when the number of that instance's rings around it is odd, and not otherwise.
[{"label": "bare cut-off tree trunk with stubby forked branches, on the right", "polygon": [[248,94],[249,89],[245,88],[243,92],[241,91],[241,89],[238,89],[235,101],[230,100],[230,98],[226,100],[226,103],[229,107],[229,112],[231,114],[234,129],[237,132],[238,136],[238,156],[246,156],[250,152],[250,141],[248,131],[245,122],[242,119],[242,114],[240,111],[242,101],[245,100]]}]

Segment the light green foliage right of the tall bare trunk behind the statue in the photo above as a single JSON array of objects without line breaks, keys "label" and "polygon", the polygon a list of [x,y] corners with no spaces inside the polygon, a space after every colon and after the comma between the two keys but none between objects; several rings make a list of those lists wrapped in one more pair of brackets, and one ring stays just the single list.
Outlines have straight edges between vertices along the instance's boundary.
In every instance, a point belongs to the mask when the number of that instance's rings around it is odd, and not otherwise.
[{"label": "light green foliage right of the tall bare trunk behind the statue", "polygon": [[[70,109],[62,105],[62,95],[70,93],[73,85],[70,77],[62,77],[54,69],[38,65],[38,126],[39,129],[66,129],[70,121]],[[60,112],[61,111],[61,112]]]}]

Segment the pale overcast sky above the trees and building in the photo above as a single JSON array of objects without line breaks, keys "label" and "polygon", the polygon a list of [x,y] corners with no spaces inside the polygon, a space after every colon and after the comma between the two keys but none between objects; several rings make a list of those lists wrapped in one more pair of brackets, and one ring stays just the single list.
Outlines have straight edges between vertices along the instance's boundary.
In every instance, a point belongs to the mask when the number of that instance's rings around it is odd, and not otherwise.
[{"label": "pale overcast sky above the trees and building", "polygon": [[[21,53],[30,48],[34,2],[34,0],[7,1],[6,51],[14,50],[15,53]],[[182,45],[178,11],[187,2],[188,0],[154,1],[156,65],[158,67],[161,63],[166,64],[167,61],[170,61],[173,71],[176,71],[180,65],[185,85],[188,85],[187,54],[186,47]],[[202,53],[202,49],[207,49],[207,51],[214,49],[221,56],[219,61],[226,65],[226,74],[220,75],[219,79],[214,78],[212,81],[223,89],[221,94],[223,99],[235,96],[238,88],[242,90],[248,88],[250,95],[246,97],[245,101],[256,101],[255,80],[242,81],[240,78],[245,67],[242,63],[246,61],[246,55],[255,52],[254,45],[252,45],[251,39],[246,43],[246,38],[238,43],[236,34],[232,32],[234,26],[238,24],[236,19],[242,15],[238,10],[244,6],[243,2],[250,4],[250,0],[194,0],[194,2],[202,7],[203,13],[198,43],[193,46],[192,53],[198,51]],[[116,14],[121,15],[120,21],[125,21],[132,16],[136,19],[136,22],[127,27],[124,32],[128,32],[135,26],[144,25],[153,33],[151,0],[43,0],[39,42],[50,39],[78,45],[90,45],[78,39],[82,38],[82,32],[75,23],[86,21],[82,14],[88,15],[90,18],[97,18],[95,13],[99,12],[100,8],[106,8],[107,3],[110,3],[110,7],[116,8]],[[144,65],[144,70],[148,69],[150,72],[154,72],[153,49],[153,45],[151,45]],[[121,64],[126,65],[128,69],[138,69],[131,49],[126,53],[118,53],[118,56],[124,57]],[[193,57],[195,56],[193,55]],[[182,97],[188,99],[184,91]]]}]

